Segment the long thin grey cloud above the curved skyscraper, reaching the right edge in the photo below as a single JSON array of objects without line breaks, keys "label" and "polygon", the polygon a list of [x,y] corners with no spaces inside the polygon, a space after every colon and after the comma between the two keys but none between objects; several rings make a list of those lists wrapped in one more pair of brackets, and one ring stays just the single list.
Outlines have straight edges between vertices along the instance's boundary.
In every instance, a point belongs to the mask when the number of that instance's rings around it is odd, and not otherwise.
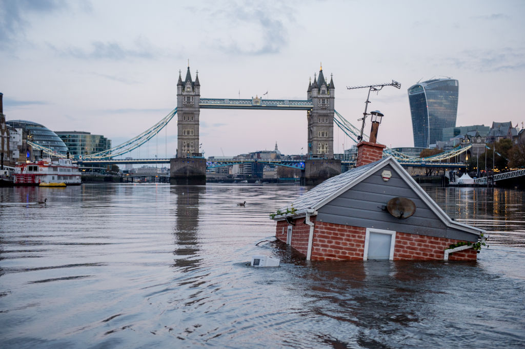
[{"label": "long thin grey cloud above the curved skyscraper, reaching the right edge", "polygon": [[[525,48],[502,48],[499,50],[464,50],[456,57],[443,59],[445,66],[478,72],[519,71],[525,69]],[[443,65],[443,62],[437,65]]]}]

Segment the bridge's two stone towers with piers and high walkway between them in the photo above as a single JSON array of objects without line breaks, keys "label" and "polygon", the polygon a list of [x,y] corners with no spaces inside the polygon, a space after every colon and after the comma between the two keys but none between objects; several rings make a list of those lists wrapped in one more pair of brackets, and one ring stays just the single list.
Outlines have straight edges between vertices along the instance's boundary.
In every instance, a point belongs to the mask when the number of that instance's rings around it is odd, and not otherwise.
[{"label": "bridge's two stone towers with piers and high walkway between them", "polygon": [[[177,81],[177,151],[171,160],[171,177],[175,183],[203,183],[206,180],[206,161],[198,152],[199,116],[202,109],[302,110],[307,112],[307,160],[303,162],[307,184],[314,184],[341,173],[341,160],[333,157],[335,86],[327,82],[322,67],[310,81],[306,100],[201,99],[198,72],[192,79],[190,67],[182,80]],[[188,160],[192,158],[192,160]],[[330,161],[327,161],[330,160]],[[280,164],[280,166],[288,166]]]}]

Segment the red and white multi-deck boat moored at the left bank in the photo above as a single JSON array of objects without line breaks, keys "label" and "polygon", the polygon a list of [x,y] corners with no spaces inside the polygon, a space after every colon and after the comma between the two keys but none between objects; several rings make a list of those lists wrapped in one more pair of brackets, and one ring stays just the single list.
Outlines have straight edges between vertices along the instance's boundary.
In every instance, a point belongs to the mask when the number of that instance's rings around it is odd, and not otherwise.
[{"label": "red and white multi-deck boat moored at the left bank", "polygon": [[20,163],[13,173],[15,186],[65,187],[82,184],[78,166],[71,159],[43,158]]}]

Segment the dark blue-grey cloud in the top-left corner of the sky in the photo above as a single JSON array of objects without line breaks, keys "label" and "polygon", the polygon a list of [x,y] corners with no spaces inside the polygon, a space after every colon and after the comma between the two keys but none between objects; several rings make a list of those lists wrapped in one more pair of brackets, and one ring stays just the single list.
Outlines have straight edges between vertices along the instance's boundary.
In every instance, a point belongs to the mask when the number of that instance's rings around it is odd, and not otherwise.
[{"label": "dark blue-grey cloud in the top-left corner of the sky", "polygon": [[30,26],[25,15],[30,13],[48,14],[67,8],[62,0],[12,0],[0,4],[0,50],[7,50],[10,43],[23,36]]}]

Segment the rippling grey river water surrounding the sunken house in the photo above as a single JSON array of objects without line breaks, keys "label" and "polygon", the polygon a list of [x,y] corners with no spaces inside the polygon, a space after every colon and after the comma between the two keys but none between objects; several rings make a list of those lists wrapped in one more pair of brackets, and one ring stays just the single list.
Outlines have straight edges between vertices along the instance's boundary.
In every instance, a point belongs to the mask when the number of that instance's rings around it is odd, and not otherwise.
[{"label": "rippling grey river water surrounding the sunken house", "polygon": [[477,263],[310,263],[268,217],[306,190],[0,188],[0,347],[525,347],[524,191],[425,189]]}]

